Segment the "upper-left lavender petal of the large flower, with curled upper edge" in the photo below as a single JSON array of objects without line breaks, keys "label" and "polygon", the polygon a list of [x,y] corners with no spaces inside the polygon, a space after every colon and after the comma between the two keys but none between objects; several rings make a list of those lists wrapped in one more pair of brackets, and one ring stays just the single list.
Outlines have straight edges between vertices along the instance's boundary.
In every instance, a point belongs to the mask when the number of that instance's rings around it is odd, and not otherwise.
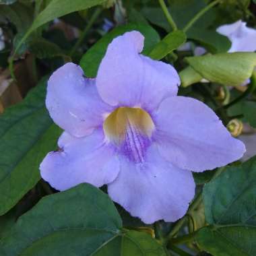
[{"label": "upper-left lavender petal of the large flower, with curled upper edge", "polygon": [[112,110],[98,96],[94,79],[86,79],[82,69],[67,63],[51,75],[46,107],[57,125],[73,136],[92,133],[103,122],[103,114]]}]

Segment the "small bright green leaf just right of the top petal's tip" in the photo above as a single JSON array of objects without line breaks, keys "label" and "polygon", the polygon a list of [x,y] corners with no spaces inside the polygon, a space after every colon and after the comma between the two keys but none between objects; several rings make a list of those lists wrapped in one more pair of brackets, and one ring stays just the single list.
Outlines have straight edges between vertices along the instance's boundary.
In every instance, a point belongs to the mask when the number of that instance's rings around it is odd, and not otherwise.
[{"label": "small bright green leaf just right of the top petal's tip", "polygon": [[162,59],[168,55],[168,53],[171,53],[185,42],[186,35],[183,31],[177,30],[170,32],[160,42],[158,42],[156,46],[154,46],[154,49],[152,49],[148,56],[156,60]]}]

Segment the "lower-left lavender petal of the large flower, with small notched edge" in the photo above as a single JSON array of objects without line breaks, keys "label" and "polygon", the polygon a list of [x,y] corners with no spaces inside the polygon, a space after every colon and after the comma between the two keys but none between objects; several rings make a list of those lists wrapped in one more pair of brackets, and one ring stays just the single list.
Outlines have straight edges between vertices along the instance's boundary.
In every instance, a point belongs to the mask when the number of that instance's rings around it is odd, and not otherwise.
[{"label": "lower-left lavender petal of the large flower, with small notched edge", "polygon": [[64,132],[59,147],[61,151],[50,152],[40,164],[42,179],[55,189],[63,191],[79,183],[101,187],[114,181],[119,173],[115,150],[104,142],[100,130],[82,138]]}]

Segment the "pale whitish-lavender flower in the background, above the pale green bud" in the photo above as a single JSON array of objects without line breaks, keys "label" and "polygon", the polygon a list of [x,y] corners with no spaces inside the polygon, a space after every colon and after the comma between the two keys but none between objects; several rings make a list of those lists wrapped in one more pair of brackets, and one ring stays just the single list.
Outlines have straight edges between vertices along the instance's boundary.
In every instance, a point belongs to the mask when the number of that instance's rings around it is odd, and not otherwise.
[{"label": "pale whitish-lavender flower in the background, above the pale green bud", "polygon": [[246,22],[238,20],[233,24],[217,28],[216,31],[227,36],[232,43],[228,53],[256,51],[256,30],[248,28],[246,25]]}]

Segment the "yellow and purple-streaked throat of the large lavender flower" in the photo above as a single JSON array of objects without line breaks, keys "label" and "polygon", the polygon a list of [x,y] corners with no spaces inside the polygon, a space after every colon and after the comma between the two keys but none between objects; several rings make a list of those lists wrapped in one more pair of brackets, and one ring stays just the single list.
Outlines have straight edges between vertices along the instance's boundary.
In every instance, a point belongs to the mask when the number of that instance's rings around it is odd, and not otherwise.
[{"label": "yellow and purple-streaked throat of the large lavender flower", "polygon": [[141,108],[117,108],[104,121],[106,137],[133,162],[143,162],[151,143],[154,123]]}]

